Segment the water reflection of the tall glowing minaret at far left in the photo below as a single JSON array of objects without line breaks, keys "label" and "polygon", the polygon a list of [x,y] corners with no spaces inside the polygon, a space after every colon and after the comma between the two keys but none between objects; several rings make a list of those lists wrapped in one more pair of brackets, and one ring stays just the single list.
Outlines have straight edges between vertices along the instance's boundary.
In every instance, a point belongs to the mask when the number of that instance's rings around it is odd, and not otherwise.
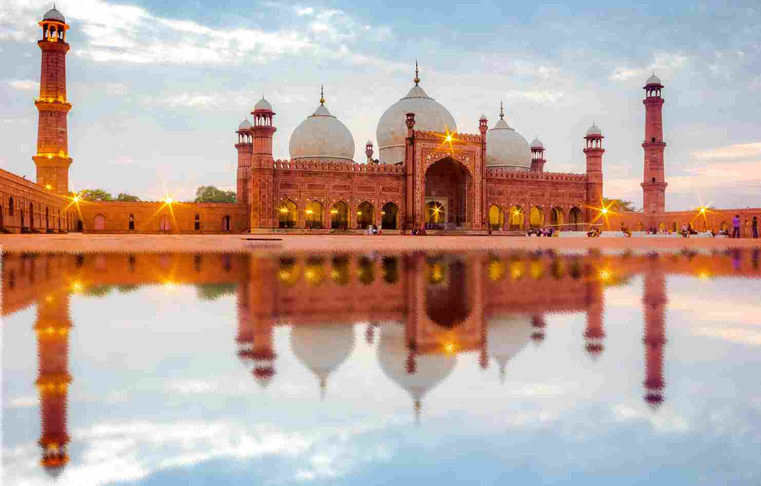
[{"label": "water reflection of the tall glowing minaret at far left", "polygon": [[68,374],[68,332],[71,328],[67,295],[49,295],[38,302],[34,331],[40,361],[36,382],[42,418],[40,464],[53,478],[57,478],[68,463],[66,400],[68,384],[72,381]]}]

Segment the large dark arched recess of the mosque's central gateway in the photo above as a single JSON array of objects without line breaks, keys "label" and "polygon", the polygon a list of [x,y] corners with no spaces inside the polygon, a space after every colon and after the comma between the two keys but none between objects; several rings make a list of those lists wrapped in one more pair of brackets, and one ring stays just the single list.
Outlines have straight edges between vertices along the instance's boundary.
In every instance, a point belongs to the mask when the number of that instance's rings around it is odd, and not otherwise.
[{"label": "large dark arched recess of the mosque's central gateway", "polygon": [[470,229],[473,219],[473,183],[465,166],[451,157],[425,171],[425,227]]}]

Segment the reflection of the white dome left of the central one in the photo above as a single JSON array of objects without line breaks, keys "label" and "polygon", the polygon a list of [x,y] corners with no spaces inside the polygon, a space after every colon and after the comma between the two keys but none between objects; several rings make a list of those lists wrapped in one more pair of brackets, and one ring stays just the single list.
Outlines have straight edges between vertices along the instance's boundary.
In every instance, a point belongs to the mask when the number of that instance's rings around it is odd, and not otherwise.
[{"label": "reflection of the white dome left of the central one", "polygon": [[352,324],[296,326],[291,330],[293,354],[320,380],[323,398],[328,376],[352,354],[354,342]]}]

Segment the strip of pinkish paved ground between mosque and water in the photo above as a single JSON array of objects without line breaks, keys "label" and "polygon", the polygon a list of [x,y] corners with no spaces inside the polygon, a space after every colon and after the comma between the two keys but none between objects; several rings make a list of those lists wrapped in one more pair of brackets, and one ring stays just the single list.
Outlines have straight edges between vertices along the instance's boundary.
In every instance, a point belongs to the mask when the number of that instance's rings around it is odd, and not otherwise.
[{"label": "strip of pinkish paved ground between mosque and water", "polygon": [[[256,241],[247,238],[259,238]],[[2,235],[3,251],[409,251],[559,248],[584,251],[759,247],[761,239],[730,238],[526,238],[406,235]]]}]

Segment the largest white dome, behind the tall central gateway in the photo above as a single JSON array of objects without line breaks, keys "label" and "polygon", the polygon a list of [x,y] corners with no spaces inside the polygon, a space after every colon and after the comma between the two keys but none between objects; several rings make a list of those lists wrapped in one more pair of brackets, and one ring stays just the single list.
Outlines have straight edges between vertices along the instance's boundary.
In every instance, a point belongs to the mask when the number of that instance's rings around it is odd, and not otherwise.
[{"label": "largest white dome, behind the tall central gateway", "polygon": [[404,161],[404,140],[407,137],[405,123],[407,113],[415,113],[415,129],[422,131],[457,131],[451,113],[441,103],[428,96],[419,87],[417,65],[415,86],[384,112],[378,122],[375,137],[378,143],[380,163],[395,164]]}]

